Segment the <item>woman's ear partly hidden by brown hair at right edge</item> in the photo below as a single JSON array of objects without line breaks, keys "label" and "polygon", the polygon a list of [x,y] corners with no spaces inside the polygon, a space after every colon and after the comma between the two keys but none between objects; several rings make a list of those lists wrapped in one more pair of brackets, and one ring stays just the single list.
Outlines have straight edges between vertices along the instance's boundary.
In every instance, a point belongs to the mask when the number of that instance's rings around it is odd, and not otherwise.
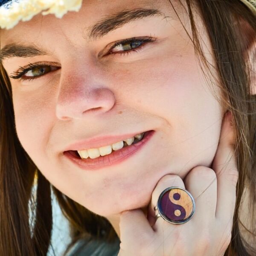
[{"label": "woman's ear partly hidden by brown hair at right edge", "polygon": [[256,95],[256,32],[244,19],[239,19],[237,25],[239,25],[239,38],[241,38],[244,59],[250,65],[250,94]]}]

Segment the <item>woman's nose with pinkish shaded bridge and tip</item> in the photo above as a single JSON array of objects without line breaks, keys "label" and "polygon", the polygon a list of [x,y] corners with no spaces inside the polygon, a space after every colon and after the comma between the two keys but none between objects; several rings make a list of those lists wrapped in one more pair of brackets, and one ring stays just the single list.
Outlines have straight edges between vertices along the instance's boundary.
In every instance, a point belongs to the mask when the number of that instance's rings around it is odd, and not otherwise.
[{"label": "woman's nose with pinkish shaded bridge and tip", "polygon": [[115,96],[110,89],[72,77],[61,83],[56,116],[61,120],[92,117],[111,110],[114,104]]}]

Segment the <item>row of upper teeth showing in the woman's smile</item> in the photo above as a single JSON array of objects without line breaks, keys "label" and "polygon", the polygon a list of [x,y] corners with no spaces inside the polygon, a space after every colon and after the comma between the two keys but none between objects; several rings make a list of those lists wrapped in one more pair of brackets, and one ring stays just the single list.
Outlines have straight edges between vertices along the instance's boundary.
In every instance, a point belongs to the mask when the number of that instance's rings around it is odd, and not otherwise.
[{"label": "row of upper teeth showing in the woman's smile", "polygon": [[[127,143],[128,146],[130,146],[134,142],[135,138],[138,140],[141,140],[143,135],[144,133],[137,134],[136,136],[132,138],[128,138],[124,141]],[[78,150],[77,152],[80,155],[80,157],[83,159],[86,159],[88,157],[90,157],[91,159],[97,158],[99,156],[103,157],[107,154],[111,154],[112,149],[116,151],[123,148],[124,141],[121,140],[121,141],[118,141],[117,143],[114,143],[112,145],[107,145],[101,148],[90,148],[90,149]]]}]

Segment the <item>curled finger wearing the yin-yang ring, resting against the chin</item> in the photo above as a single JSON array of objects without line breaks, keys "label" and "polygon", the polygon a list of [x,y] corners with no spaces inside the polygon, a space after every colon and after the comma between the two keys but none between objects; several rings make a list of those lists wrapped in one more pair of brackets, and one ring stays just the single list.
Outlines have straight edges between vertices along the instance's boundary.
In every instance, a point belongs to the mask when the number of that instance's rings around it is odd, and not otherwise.
[{"label": "curled finger wearing the yin-yang ring, resting against the chin", "polygon": [[[152,199],[150,202],[150,209],[149,209],[149,214],[151,216],[155,217],[155,211],[154,207],[157,205],[158,198],[160,194],[163,192],[163,190],[167,189],[168,187],[171,186],[178,186],[183,189],[185,189],[185,185],[183,183],[183,180],[177,176],[177,175],[165,175],[163,176],[157,183],[157,186],[155,187],[153,193],[152,193]],[[158,213],[158,211],[157,211]],[[168,226],[170,225],[168,222],[166,222],[163,218],[157,218],[153,229],[155,231],[162,230],[163,229],[163,224],[167,224]]]}]

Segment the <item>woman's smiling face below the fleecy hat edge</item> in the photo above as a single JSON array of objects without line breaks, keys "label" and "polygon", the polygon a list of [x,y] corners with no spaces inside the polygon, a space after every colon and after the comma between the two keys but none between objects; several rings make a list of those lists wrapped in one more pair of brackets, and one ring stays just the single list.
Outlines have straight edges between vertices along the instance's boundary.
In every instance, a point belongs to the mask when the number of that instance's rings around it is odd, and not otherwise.
[{"label": "woman's smiling face below the fleecy hat edge", "polygon": [[[190,33],[186,11],[173,2]],[[89,36],[96,23],[128,10]],[[214,64],[207,32],[196,20],[204,52]],[[115,41],[129,38],[138,39],[111,49]],[[84,207],[102,216],[142,208],[164,175],[184,178],[195,166],[211,166],[224,110],[207,87],[193,44],[168,0],[87,0],[79,12],[62,19],[39,14],[2,30],[0,41],[1,49],[8,44],[44,49],[41,55],[28,49],[16,57],[2,53],[9,76],[29,63],[49,65],[23,75],[33,80],[10,78],[17,136],[49,182]],[[154,134],[143,146],[134,146],[130,155],[127,147],[122,161],[116,158],[111,165],[105,160],[105,166],[89,169],[64,154],[92,148],[70,146],[91,137],[125,140],[127,134],[150,130]],[[109,142],[102,139],[100,145]]]}]

